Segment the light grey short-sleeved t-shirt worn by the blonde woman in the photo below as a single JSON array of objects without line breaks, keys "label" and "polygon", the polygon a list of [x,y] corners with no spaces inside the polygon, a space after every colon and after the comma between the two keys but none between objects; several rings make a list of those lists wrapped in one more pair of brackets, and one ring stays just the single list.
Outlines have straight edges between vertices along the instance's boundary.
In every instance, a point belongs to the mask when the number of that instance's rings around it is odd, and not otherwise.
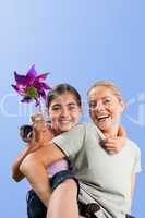
[{"label": "light grey short-sleeved t-shirt worn by the blonde woman", "polygon": [[80,201],[98,203],[98,218],[123,218],[131,209],[131,174],[141,170],[140,149],[126,140],[122,150],[109,155],[104,134],[93,123],[77,124],[52,141],[70,157],[80,181]]}]

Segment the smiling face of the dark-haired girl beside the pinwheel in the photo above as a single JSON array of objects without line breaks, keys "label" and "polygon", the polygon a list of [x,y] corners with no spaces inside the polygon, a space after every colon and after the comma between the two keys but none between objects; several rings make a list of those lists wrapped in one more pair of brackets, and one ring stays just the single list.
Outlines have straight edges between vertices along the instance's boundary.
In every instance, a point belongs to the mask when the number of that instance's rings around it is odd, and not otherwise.
[{"label": "smiling face of the dark-haired girl beside the pinwheel", "polygon": [[69,131],[81,117],[82,108],[69,92],[57,96],[48,108],[48,116],[56,134]]}]

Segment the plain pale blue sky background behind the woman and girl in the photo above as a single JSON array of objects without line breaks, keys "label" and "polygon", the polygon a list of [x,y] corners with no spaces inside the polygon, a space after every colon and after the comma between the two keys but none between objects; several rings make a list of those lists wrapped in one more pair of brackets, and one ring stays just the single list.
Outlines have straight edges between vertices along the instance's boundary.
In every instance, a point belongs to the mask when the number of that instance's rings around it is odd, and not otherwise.
[{"label": "plain pale blue sky background behind the woman and girl", "polygon": [[[97,80],[111,80],[129,106],[123,116],[128,135],[142,150],[143,171],[133,202],[144,218],[145,174],[145,2],[144,0],[4,0],[0,4],[0,213],[26,218],[26,180],[11,179],[11,165],[23,148],[19,126],[29,121],[11,88],[13,71],[24,73],[35,63],[50,72],[50,86],[74,85],[88,121],[86,90]],[[34,111],[34,110],[33,110]],[[124,166],[125,167],[125,166]]]}]

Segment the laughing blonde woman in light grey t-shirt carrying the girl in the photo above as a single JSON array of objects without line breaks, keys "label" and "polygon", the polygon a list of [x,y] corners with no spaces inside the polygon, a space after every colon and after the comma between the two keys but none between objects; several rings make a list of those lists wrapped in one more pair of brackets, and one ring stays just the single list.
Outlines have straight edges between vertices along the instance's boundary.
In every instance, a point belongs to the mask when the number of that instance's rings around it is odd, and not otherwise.
[{"label": "laughing blonde woman in light grey t-shirt carrying the girl", "polygon": [[[132,141],[126,140],[122,150],[110,156],[99,142],[102,138],[101,133],[112,138],[108,145],[117,137],[124,110],[122,96],[110,82],[95,83],[87,95],[94,123],[77,125],[65,135],[55,137],[51,149],[57,145],[70,157],[80,181],[78,199],[84,204],[96,203],[96,217],[131,217],[135,175],[141,170],[140,149]],[[48,217],[53,215],[56,199],[57,192],[49,203]]]}]

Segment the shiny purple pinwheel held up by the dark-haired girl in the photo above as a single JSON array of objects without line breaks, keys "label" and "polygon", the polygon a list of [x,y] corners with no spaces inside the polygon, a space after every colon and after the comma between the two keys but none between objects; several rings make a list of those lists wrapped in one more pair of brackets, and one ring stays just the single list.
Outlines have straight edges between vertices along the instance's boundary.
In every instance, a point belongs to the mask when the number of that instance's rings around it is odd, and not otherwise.
[{"label": "shiny purple pinwheel held up by the dark-haired girl", "polygon": [[22,102],[36,101],[36,106],[40,106],[40,98],[46,100],[46,90],[51,89],[43,81],[46,80],[48,73],[37,75],[35,65],[33,65],[26,75],[20,75],[14,72],[14,78],[16,84],[12,87],[23,96]]}]

